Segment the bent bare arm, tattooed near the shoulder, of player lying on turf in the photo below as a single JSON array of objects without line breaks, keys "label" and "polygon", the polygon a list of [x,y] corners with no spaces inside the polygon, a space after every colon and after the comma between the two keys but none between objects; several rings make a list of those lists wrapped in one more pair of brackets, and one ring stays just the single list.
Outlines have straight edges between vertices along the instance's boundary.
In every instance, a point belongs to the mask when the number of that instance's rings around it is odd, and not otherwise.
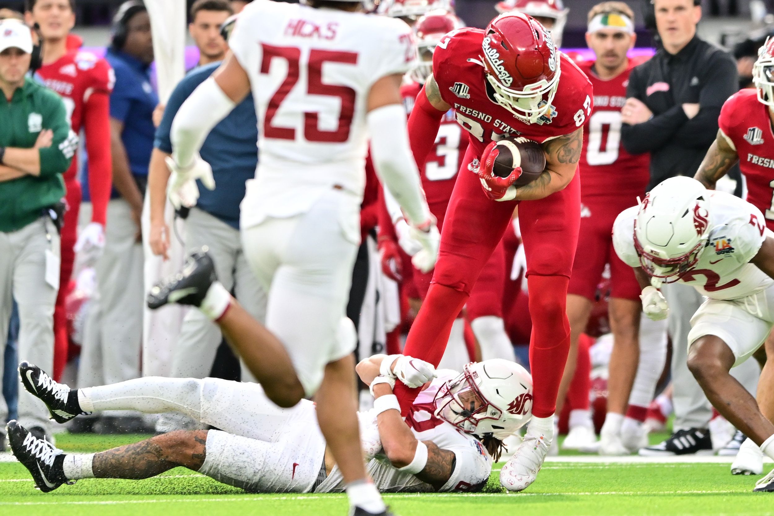
[{"label": "bent bare arm, tattooed near the shoulder, of player lying on turf", "polygon": [[[387,384],[378,384],[374,388],[374,394],[376,397],[385,396],[392,394],[392,389]],[[384,411],[378,415],[376,422],[379,438],[382,439],[382,448],[392,466],[396,468],[408,466],[414,459],[419,441],[400,417],[400,412]],[[420,473],[416,473],[416,478],[438,490],[454,473],[457,456],[451,450],[438,448],[432,441],[423,442],[427,446],[427,463]]]}]

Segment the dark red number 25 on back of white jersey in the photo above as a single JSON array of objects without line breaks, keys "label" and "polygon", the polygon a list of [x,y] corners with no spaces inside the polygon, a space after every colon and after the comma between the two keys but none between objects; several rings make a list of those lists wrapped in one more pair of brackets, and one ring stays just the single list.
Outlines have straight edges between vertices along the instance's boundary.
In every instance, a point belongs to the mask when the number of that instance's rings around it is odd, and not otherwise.
[{"label": "dark red number 25 on back of white jersey", "polygon": [[295,46],[273,46],[262,43],[263,60],[261,73],[269,74],[272,60],[285,60],[288,73],[272,95],[266,108],[263,120],[263,136],[276,139],[296,139],[296,129],[291,127],[272,126],[272,119],[276,115],[283,100],[293,90],[299,80],[300,68],[307,67],[307,93],[309,95],[323,95],[341,99],[341,112],[338,117],[338,127],[333,131],[324,131],[319,127],[318,114],[305,112],[303,114],[303,137],[310,142],[343,143],[349,139],[352,116],[354,115],[354,103],[356,93],[352,88],[340,84],[324,84],[323,64],[342,63],[357,64],[358,53],[341,50],[316,50],[309,52],[307,63],[301,61],[301,49]]}]

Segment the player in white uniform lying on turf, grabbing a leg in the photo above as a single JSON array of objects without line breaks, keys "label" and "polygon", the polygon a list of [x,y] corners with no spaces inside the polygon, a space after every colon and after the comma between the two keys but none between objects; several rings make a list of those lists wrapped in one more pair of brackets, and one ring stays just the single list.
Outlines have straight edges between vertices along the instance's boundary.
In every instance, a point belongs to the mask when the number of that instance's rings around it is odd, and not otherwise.
[{"label": "player in white uniform lying on turf, grabbing a leg", "polygon": [[[400,380],[422,385],[405,422],[392,394],[399,362],[413,370]],[[382,491],[480,489],[500,456],[502,439],[532,415],[532,377],[504,359],[471,363],[457,373],[435,371],[409,356],[377,355],[357,370],[375,396],[374,408],[358,418],[368,473]],[[344,490],[312,401],[278,408],[258,384],[217,378],[147,377],[71,390],[26,362],[19,374],[56,421],[103,410],[180,411],[221,428],[171,432],[106,452],[71,455],[10,421],[11,449],[43,492],[81,478],[138,480],[177,466],[253,492]]]}]

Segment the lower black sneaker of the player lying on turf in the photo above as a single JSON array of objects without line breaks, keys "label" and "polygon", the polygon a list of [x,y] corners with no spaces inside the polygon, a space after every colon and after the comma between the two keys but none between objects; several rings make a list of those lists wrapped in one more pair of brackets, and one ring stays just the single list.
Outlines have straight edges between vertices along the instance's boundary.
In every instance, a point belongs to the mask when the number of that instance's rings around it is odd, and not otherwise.
[{"label": "lower black sneaker of the player lying on turf", "polygon": [[62,450],[46,439],[36,438],[15,419],[9,421],[5,429],[8,431],[13,455],[29,470],[39,490],[48,493],[63,483],[74,483],[68,482],[64,476]]}]

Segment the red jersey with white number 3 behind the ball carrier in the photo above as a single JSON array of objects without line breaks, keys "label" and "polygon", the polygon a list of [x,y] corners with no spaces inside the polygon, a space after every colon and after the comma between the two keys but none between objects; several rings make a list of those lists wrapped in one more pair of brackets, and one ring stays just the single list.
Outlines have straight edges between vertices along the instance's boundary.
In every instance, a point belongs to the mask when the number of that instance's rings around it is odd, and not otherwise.
[{"label": "red jersey with white number 3 behind the ball carrier", "polygon": [[[411,113],[416,95],[421,90],[422,84],[418,82],[410,82],[400,88],[406,114]],[[467,143],[467,133],[462,131],[454,118],[454,111],[450,110],[440,122],[435,146],[427,161],[423,165],[417,163],[420,165],[422,187],[431,208],[434,204],[448,204],[451,191],[454,190],[454,181],[457,180],[457,172],[467,150]]]}]

